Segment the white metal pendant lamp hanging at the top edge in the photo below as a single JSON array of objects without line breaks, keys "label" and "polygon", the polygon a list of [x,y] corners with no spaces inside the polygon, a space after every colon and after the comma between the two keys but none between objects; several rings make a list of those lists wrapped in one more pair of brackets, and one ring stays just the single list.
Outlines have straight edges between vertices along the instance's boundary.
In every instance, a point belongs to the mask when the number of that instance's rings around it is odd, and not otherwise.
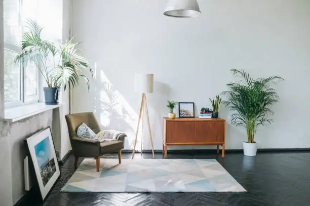
[{"label": "white metal pendant lamp hanging at the top edge", "polygon": [[200,14],[196,0],[169,0],[164,15],[168,17],[190,18]]}]

